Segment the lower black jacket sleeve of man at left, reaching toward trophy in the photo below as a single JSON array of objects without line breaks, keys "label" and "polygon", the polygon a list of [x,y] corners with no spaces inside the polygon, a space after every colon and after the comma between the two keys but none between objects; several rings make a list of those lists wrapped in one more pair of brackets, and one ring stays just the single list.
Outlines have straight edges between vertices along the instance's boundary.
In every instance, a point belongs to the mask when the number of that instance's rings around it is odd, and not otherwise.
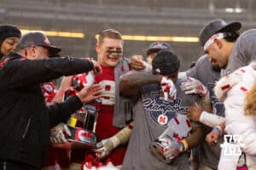
[{"label": "lower black jacket sleeve of man at left, reaching toward trophy", "polygon": [[82,105],[77,95],[67,99],[65,102],[50,105],[48,108],[50,127],[54,127],[60,122],[67,122],[67,118],[79,110]]}]

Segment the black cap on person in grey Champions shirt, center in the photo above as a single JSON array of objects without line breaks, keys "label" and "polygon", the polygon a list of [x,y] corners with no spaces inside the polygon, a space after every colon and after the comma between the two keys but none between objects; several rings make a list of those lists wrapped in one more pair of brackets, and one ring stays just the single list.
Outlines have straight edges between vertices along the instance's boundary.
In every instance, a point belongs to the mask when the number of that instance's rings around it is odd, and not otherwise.
[{"label": "black cap on person in grey Champions shirt, center", "polygon": [[170,50],[160,50],[152,61],[153,70],[163,76],[169,76],[178,71],[180,61]]}]

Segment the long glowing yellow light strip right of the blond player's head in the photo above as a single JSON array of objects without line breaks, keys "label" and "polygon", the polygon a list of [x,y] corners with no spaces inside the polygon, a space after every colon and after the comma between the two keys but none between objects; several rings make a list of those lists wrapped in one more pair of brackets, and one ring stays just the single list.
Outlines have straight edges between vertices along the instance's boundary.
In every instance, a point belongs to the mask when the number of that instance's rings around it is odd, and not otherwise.
[{"label": "long glowing yellow light strip right of the blond player's head", "polygon": [[[96,39],[99,35],[96,35]],[[157,37],[157,36],[130,36],[123,35],[124,40],[149,42],[199,42],[198,37]]]}]

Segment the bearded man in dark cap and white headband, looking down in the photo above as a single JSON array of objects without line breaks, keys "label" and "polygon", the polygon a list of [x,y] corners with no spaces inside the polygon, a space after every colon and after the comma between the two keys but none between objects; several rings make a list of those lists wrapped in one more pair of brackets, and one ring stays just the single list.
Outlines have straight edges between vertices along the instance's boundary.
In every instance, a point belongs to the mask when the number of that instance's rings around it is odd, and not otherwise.
[{"label": "bearded man in dark cap and white headband, looking down", "polygon": [[209,55],[212,65],[230,74],[241,66],[248,65],[256,56],[256,30],[244,31],[239,36],[241,23],[211,20],[201,29],[200,42]]}]

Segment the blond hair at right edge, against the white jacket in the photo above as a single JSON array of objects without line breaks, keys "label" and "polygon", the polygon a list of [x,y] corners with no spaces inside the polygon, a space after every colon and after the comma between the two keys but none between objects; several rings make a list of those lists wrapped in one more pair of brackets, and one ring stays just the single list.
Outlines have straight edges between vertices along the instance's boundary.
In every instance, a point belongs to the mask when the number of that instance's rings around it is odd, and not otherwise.
[{"label": "blond hair at right edge, against the white jacket", "polygon": [[249,90],[245,99],[244,111],[246,116],[256,116],[256,82]]}]

